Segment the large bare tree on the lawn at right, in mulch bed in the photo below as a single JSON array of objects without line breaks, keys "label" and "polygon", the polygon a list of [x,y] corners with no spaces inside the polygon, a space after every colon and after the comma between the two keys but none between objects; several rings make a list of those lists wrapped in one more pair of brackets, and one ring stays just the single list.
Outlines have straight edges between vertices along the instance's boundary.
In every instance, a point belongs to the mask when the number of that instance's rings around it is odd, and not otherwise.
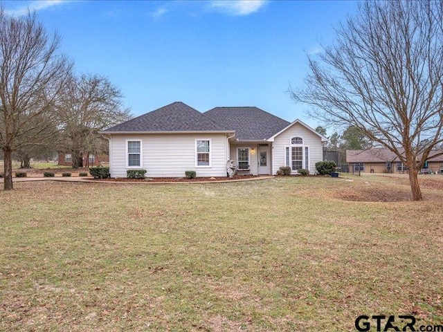
[{"label": "large bare tree on the lawn at right, in mulch bed", "polygon": [[442,154],[443,1],[369,0],[336,33],[319,62],[308,57],[306,87],[291,97],[394,152],[422,200],[419,169]]}]

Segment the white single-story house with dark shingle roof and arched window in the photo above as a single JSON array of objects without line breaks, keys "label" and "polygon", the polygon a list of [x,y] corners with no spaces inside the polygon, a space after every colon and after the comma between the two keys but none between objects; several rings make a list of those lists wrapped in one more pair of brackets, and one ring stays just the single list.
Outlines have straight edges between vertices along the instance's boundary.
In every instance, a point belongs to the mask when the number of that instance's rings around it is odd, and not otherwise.
[{"label": "white single-story house with dark shingle roof and arched window", "polygon": [[295,120],[290,123],[257,107],[216,107],[200,113],[174,102],[101,131],[109,139],[111,177],[127,169],[147,176],[226,176],[226,165],[242,174],[275,174],[281,166],[309,169],[323,160],[327,139]]}]

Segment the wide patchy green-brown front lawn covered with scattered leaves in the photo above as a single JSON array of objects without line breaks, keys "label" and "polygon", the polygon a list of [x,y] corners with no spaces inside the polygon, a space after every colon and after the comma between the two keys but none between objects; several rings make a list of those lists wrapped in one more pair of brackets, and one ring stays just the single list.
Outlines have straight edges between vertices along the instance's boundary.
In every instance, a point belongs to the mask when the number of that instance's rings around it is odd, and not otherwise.
[{"label": "wide patchy green-brown front lawn covered with scattered leaves", "polygon": [[[0,331],[356,331],[443,320],[443,176],[0,191]],[[376,331],[373,325],[371,331]]]}]

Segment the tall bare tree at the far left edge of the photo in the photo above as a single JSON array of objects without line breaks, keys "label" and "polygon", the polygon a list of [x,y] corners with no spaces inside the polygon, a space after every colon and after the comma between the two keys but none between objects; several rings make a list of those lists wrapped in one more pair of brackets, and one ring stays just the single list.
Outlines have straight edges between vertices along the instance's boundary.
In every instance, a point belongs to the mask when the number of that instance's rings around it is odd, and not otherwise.
[{"label": "tall bare tree at the far left edge of the photo", "polygon": [[0,6],[0,147],[4,190],[12,190],[12,152],[57,131],[53,107],[71,64],[58,53],[35,13],[8,17]]}]

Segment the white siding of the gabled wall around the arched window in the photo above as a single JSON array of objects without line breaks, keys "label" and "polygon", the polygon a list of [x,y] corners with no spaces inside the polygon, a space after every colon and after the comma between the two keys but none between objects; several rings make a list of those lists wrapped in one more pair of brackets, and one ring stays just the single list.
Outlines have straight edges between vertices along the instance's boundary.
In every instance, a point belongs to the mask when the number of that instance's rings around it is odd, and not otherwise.
[{"label": "white siding of the gabled wall around the arched window", "polygon": [[272,174],[284,166],[284,147],[287,147],[294,136],[303,138],[303,145],[309,146],[309,172],[316,172],[316,163],[323,160],[323,145],[320,136],[316,135],[300,123],[293,124],[274,138],[272,148]]}]

